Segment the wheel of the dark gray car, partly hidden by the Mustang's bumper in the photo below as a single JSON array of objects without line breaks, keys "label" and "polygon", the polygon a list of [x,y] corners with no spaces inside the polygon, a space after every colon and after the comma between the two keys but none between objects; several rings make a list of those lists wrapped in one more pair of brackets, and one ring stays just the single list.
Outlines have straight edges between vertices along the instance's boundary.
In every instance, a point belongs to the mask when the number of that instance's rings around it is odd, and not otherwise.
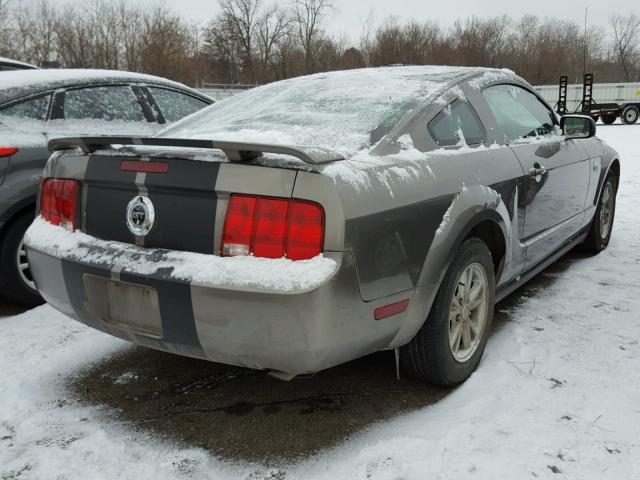
[{"label": "wheel of the dark gray car, partly hidden by the Mustang's bumper", "polygon": [[43,302],[31,277],[22,240],[32,221],[32,213],[15,219],[0,245],[0,292],[7,300],[29,307]]}]

